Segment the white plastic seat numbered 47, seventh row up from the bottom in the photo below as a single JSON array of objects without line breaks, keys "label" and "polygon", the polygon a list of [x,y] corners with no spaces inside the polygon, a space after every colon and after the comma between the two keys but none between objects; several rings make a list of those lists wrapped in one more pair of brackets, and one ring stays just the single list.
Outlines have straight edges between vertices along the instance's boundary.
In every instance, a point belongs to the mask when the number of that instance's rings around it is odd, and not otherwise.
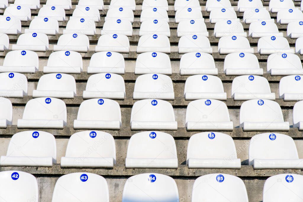
[{"label": "white plastic seat numbered 47, seventh row up from the bottom", "polygon": [[277,25],[274,22],[255,21],[249,25],[248,35],[252,38],[261,38],[266,36],[281,36]]}]

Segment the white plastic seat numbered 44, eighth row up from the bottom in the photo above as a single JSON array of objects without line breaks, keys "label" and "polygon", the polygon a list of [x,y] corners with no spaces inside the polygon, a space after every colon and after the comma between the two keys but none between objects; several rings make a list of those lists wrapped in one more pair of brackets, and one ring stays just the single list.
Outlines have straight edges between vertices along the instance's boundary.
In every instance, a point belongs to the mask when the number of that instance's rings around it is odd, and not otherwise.
[{"label": "white plastic seat numbered 44, eighth row up from the bottom", "polygon": [[145,8],[141,12],[140,22],[146,20],[164,20],[168,22],[168,14],[164,8]]}]

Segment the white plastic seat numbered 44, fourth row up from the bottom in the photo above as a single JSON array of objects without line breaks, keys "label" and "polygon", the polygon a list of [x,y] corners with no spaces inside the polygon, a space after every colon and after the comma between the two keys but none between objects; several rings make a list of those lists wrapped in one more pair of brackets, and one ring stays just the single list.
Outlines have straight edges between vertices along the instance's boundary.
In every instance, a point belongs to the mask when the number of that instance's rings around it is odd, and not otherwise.
[{"label": "white plastic seat numbered 44, fourth row up from the bottom", "polygon": [[143,74],[137,77],[133,99],[175,99],[174,86],[164,74]]}]

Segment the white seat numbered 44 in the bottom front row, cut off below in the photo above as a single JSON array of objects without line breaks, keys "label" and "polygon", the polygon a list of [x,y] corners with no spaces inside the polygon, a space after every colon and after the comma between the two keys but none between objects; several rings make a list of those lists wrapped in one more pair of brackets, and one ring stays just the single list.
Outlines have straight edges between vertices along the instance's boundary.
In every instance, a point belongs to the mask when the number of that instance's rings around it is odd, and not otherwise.
[{"label": "white seat numbered 44 in the bottom front row, cut off below", "polygon": [[179,200],[175,180],[167,175],[144,173],[126,180],[122,202],[175,202]]}]

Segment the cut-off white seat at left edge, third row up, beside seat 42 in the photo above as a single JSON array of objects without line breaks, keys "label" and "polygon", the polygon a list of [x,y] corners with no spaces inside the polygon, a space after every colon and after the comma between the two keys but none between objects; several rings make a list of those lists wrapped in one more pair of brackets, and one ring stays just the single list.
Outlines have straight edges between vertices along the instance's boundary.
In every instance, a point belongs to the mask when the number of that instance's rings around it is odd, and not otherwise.
[{"label": "cut-off white seat at left edge, third row up, beside seat 42", "polygon": [[0,112],[0,128],[12,125],[13,106],[9,99],[0,97]]}]

